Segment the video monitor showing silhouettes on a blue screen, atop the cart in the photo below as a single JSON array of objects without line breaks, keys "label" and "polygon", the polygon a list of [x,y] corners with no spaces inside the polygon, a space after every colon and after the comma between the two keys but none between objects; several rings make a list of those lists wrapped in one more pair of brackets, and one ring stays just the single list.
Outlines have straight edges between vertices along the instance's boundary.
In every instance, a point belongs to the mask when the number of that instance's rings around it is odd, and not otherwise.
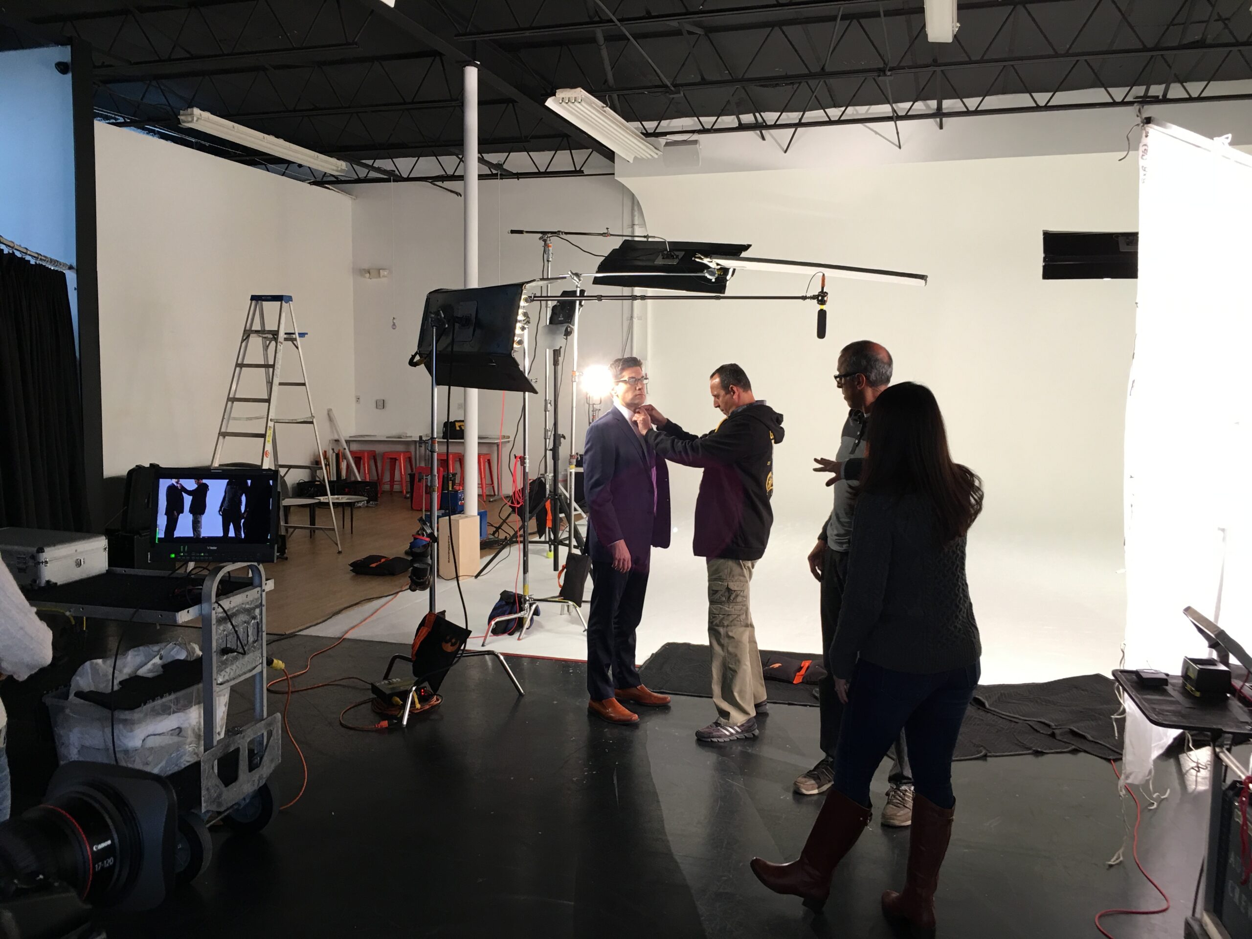
[{"label": "video monitor showing silhouettes on a blue screen, atop the cart", "polygon": [[273,562],[278,471],[153,467],[151,561]]}]

